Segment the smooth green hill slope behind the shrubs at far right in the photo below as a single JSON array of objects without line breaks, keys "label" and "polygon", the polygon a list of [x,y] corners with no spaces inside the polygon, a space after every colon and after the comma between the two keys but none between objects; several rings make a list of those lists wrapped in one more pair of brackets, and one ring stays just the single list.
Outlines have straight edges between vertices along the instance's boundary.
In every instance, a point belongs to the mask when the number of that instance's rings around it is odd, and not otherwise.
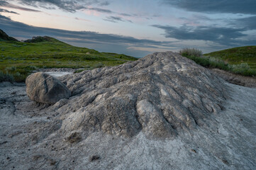
[{"label": "smooth green hill slope behind the shrubs at far right", "polygon": [[256,46],[234,47],[205,55],[224,60],[228,62],[228,64],[241,64],[246,62],[250,68],[256,69]]}]

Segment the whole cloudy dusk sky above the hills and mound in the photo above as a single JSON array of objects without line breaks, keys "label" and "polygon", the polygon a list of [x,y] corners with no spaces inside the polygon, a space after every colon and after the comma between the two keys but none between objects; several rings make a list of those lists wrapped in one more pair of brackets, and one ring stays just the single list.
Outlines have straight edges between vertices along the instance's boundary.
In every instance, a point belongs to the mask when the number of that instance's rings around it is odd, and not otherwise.
[{"label": "whole cloudy dusk sky above the hills and mound", "polygon": [[0,0],[0,29],[144,57],[256,45],[255,0]]}]

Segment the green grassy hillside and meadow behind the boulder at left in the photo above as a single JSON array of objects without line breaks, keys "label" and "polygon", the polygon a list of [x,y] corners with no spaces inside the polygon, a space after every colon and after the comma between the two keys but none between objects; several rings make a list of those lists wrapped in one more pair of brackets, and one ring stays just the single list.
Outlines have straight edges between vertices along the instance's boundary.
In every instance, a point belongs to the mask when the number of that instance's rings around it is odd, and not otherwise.
[{"label": "green grassy hillside and meadow behind the boulder at left", "polygon": [[[74,47],[50,38],[43,42],[0,41],[0,81],[12,76],[24,81],[38,68],[84,68],[115,66],[138,60],[135,57]],[[10,79],[7,79],[11,81]]]}]

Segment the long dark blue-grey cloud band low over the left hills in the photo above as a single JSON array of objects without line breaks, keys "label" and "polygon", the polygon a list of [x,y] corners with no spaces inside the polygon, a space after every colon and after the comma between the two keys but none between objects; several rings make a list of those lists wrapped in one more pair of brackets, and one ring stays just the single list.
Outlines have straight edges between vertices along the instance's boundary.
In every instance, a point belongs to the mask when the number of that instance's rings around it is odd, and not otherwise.
[{"label": "long dark blue-grey cloud band low over the left hills", "polygon": [[[160,47],[170,49],[171,42],[156,41],[148,39],[138,39],[129,36],[115,35],[115,34],[102,34],[90,31],[72,31],[60,30],[53,28],[41,28],[28,26],[24,23],[12,21],[6,16],[0,15],[0,28],[12,37],[21,40],[32,38],[33,36],[48,35],[58,40],[62,40],[72,45],[79,45],[82,47],[90,47],[95,50],[105,52],[118,52],[132,55],[135,57],[144,57],[150,51],[143,50],[148,45],[155,47],[155,51]],[[141,47],[142,50],[134,50],[129,47]],[[144,47],[144,48],[143,48]]]}]

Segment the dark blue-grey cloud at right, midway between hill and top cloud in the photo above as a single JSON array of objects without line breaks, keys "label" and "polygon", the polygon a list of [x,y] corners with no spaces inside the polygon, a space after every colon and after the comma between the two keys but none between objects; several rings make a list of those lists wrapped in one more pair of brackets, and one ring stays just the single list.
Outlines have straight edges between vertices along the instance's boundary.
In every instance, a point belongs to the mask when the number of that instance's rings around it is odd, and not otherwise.
[{"label": "dark blue-grey cloud at right, midway between hill and top cloud", "polygon": [[179,28],[173,26],[153,25],[155,28],[165,30],[165,38],[176,38],[177,40],[204,40],[218,43],[220,45],[251,44],[256,40],[246,41],[246,28],[226,28],[214,26],[187,26]]}]

